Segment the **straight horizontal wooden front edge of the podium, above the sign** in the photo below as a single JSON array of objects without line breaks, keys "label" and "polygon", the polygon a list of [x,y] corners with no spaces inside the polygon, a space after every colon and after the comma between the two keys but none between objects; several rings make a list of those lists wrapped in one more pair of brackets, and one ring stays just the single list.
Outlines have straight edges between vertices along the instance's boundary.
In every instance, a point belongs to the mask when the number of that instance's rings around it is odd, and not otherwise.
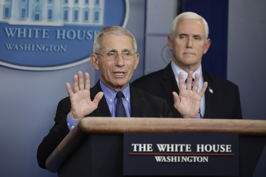
[{"label": "straight horizontal wooden front edge of the podium, above the sign", "polygon": [[87,117],[79,124],[87,134],[236,133],[266,137],[266,120]]}]

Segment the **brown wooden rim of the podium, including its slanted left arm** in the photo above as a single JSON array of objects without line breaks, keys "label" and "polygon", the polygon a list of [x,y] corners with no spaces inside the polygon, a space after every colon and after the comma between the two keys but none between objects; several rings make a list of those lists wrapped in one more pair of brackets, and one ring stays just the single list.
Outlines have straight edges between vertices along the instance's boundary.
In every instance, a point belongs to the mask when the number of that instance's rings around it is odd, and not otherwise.
[{"label": "brown wooden rim of the podium, including its slanted left arm", "polygon": [[120,135],[126,132],[232,133],[240,137],[266,137],[266,120],[85,117],[46,159],[46,167],[51,172],[57,172],[87,135]]}]

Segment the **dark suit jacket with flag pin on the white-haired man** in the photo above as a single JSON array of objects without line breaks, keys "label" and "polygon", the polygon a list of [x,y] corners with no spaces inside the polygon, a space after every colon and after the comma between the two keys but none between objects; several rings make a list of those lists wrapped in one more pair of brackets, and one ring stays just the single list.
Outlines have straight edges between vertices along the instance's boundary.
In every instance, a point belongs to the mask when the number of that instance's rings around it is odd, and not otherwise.
[{"label": "dark suit jacket with flag pin on the white-haired man", "polygon": [[[202,67],[203,80],[208,82],[205,92],[205,114],[207,119],[242,119],[238,86],[234,83],[207,72]],[[171,63],[166,68],[136,79],[131,85],[149,94],[165,99],[173,117],[180,118],[180,113],[174,108],[172,92],[179,93],[176,78]],[[213,94],[209,91],[213,90]]]}]

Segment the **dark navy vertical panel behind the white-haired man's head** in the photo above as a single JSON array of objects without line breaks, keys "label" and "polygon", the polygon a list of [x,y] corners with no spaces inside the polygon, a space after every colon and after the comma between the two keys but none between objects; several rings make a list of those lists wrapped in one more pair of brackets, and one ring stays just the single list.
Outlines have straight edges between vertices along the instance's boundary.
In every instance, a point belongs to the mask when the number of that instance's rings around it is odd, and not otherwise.
[{"label": "dark navy vertical panel behind the white-haired man's head", "polygon": [[207,21],[211,46],[202,57],[202,66],[207,71],[226,78],[228,0],[183,0],[182,12],[195,12]]}]

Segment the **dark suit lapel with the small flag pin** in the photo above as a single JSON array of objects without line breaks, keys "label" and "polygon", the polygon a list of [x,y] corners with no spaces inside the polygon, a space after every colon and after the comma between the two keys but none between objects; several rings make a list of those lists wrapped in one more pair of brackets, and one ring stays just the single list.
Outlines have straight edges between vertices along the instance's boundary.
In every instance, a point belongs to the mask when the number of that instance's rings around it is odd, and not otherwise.
[{"label": "dark suit lapel with the small flag pin", "polygon": [[[208,83],[207,89],[205,91],[205,114],[204,118],[210,119],[212,118],[212,114],[215,107],[215,100],[217,98],[217,88],[215,85],[215,81],[212,77],[208,74],[208,72],[202,67],[202,75],[204,82]],[[209,88],[212,89],[213,93],[210,92]]]}]

